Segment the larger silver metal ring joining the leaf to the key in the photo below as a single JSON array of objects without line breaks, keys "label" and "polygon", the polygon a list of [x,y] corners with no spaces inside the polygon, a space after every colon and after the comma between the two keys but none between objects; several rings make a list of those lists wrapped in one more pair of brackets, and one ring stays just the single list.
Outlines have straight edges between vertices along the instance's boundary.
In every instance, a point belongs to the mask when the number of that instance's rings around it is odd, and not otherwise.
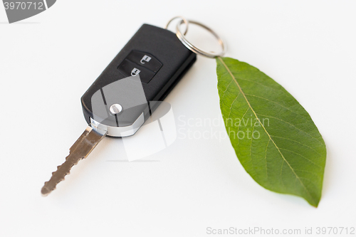
[{"label": "larger silver metal ring joining the leaf to the key", "polygon": [[[202,51],[200,48],[197,48],[196,46],[192,45],[192,43],[190,43],[187,38],[185,38],[185,33],[182,34],[182,32],[180,31],[180,25],[182,25],[182,23],[185,23],[185,21],[179,21],[179,23],[177,24],[177,37],[179,38],[179,41],[181,41],[184,46],[186,46],[187,48],[189,48],[189,50],[193,51],[194,53],[200,54],[201,56],[205,56],[208,58],[216,58],[216,57],[222,57],[224,56],[224,54],[226,53],[226,46],[224,41],[218,36],[217,33],[215,33],[215,31],[211,30],[211,28],[209,28],[208,26],[205,26],[202,23],[199,23],[197,21],[188,21],[189,23],[193,23],[197,26],[201,26],[202,28],[205,28],[207,31],[209,31],[213,36],[215,36],[215,38],[218,40],[219,45],[221,46],[221,52],[220,53],[208,53],[206,51]],[[187,27],[188,28],[188,27]]]}]

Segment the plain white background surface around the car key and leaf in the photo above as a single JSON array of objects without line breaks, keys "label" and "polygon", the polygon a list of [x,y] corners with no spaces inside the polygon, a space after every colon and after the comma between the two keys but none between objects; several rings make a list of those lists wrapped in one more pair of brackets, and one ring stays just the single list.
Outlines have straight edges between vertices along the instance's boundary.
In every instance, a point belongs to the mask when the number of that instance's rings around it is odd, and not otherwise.
[{"label": "plain white background surface around the car key and leaf", "polygon": [[[356,227],[355,11],[356,1],[61,0],[8,24],[0,6],[0,236]],[[80,96],[142,23],[164,26],[176,15],[216,29],[229,46],[226,56],[271,76],[313,117],[328,149],[318,209],[263,189],[229,139],[216,137],[178,137],[146,158],[156,162],[125,162],[120,139],[105,138],[52,194],[41,196],[86,127]],[[176,118],[221,116],[215,66],[199,57],[167,97]],[[223,126],[212,130],[224,134]]]}]

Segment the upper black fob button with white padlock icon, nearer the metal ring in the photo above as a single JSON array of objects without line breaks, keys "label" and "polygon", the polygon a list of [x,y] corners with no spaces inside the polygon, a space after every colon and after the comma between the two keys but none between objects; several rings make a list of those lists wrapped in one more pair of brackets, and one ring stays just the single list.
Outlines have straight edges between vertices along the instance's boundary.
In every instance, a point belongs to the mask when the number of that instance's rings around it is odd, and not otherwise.
[{"label": "upper black fob button with white padlock icon, nearer the metal ring", "polygon": [[142,65],[155,73],[162,68],[162,63],[150,53],[131,51],[131,53],[127,56],[127,59],[137,63],[138,65]]}]

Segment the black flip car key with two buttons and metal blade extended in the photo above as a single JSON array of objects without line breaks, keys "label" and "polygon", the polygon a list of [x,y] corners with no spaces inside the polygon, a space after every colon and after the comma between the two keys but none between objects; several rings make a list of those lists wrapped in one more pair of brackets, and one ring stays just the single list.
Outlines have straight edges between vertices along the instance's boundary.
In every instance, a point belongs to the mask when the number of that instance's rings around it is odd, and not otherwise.
[{"label": "black flip car key with two buttons and metal blade extended", "polygon": [[164,100],[196,59],[172,31],[142,25],[82,96],[88,127],[44,184],[43,196],[56,189],[106,135],[134,135],[159,105],[156,101]]}]

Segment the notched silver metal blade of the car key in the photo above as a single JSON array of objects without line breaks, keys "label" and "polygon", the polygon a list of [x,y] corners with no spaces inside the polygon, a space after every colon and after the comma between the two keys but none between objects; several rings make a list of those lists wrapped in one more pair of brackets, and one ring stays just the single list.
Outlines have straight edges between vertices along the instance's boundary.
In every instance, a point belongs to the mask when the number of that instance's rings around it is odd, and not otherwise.
[{"label": "notched silver metal blade of the car key", "polygon": [[104,134],[93,130],[92,127],[88,126],[83,134],[77,139],[69,149],[69,155],[66,157],[66,162],[58,166],[57,170],[52,173],[52,177],[49,181],[46,181],[43,188],[41,189],[41,194],[47,196],[54,189],[56,189],[57,184],[64,180],[67,174],[69,174],[70,169],[73,165],[77,164],[80,159],[88,157],[91,151],[96,147],[96,145],[107,135],[105,131]]}]

